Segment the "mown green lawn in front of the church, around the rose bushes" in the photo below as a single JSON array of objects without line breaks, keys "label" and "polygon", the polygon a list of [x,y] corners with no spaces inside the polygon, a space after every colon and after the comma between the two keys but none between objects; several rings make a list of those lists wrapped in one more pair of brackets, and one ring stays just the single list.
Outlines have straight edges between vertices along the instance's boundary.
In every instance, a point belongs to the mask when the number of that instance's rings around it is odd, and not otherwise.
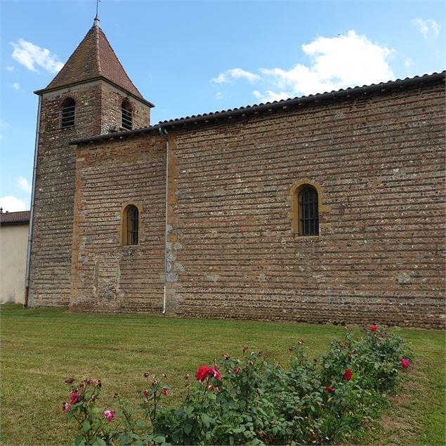
[{"label": "mown green lawn in front of the church, around the rose bushes", "polygon": [[[181,400],[183,376],[242,343],[287,365],[288,347],[303,339],[317,355],[343,327],[234,320],[168,319],[148,315],[84,315],[66,308],[1,306],[1,436],[4,445],[65,445],[74,426],[61,412],[67,377],[103,381],[100,407],[115,392],[137,400],[143,373],[167,375],[169,400]],[[400,395],[358,442],[444,445],[445,334],[403,329],[417,353]]]}]

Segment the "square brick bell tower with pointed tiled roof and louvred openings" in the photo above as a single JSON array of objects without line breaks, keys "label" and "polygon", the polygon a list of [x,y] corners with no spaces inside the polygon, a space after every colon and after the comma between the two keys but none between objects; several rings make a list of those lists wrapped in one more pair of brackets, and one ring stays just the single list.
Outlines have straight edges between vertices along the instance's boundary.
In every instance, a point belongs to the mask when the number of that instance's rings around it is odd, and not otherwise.
[{"label": "square brick bell tower with pointed tiled roof and louvred openings", "polygon": [[150,108],[100,28],[39,96],[25,306],[70,303],[75,147],[70,140],[150,125]]}]

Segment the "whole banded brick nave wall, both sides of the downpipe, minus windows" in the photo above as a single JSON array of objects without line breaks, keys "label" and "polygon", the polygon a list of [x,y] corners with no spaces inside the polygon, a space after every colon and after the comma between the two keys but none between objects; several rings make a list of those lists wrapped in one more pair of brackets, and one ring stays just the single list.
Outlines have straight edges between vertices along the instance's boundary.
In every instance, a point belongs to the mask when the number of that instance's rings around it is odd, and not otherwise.
[{"label": "whole banded brick nave wall, both sides of the downpipe, minus windows", "polygon": [[[176,124],[167,314],[445,327],[444,104],[440,84]],[[75,310],[161,312],[164,150],[157,133],[79,146]],[[291,232],[303,179],[320,237]],[[129,201],[139,247],[120,245]]]}]

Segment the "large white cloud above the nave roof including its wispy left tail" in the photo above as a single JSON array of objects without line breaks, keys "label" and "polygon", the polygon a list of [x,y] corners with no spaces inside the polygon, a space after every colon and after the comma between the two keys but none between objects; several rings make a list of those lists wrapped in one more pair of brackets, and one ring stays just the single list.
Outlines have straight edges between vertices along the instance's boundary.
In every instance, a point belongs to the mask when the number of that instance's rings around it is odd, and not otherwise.
[{"label": "large white cloud above the nave roof including its wispy left tail", "polygon": [[[257,88],[253,95],[261,102],[308,96],[340,88],[378,84],[395,79],[388,63],[395,50],[376,44],[353,29],[337,37],[317,37],[301,46],[310,59],[308,65],[298,63],[287,70],[282,67],[260,68],[259,74],[233,68],[211,79],[225,84],[236,79],[261,83],[265,91]],[[406,67],[412,60],[405,60]]]}]

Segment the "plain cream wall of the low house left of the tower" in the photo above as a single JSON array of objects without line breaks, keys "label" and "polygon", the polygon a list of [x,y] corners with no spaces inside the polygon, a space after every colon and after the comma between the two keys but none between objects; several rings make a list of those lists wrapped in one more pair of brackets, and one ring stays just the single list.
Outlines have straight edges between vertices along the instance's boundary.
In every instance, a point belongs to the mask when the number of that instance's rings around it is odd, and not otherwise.
[{"label": "plain cream wall of the low house left of the tower", "polygon": [[0,226],[0,303],[25,301],[28,223]]}]

